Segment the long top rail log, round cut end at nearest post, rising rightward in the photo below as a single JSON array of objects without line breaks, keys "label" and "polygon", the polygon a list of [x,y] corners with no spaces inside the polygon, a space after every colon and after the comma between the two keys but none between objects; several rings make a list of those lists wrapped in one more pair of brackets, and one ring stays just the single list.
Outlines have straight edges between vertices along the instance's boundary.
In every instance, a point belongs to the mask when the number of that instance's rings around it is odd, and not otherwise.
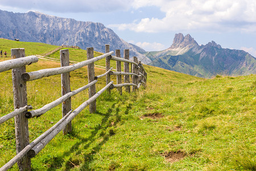
[{"label": "long top rail log, round cut end at nearest post, rising rightward", "polygon": [[107,54],[97,56],[93,59],[89,59],[89,60],[85,60],[83,62],[76,63],[72,66],[59,67],[59,68],[49,68],[49,69],[44,69],[44,70],[39,70],[39,71],[26,72],[26,73],[22,74],[22,79],[25,80],[25,81],[31,81],[31,80],[44,78],[46,76],[52,76],[52,75],[63,74],[63,73],[66,73],[66,72],[71,72],[71,71],[77,70],[78,68],[82,68],[84,66],[87,66],[88,64],[94,63],[97,60],[103,59],[103,58],[105,58],[105,57],[107,57],[111,54],[113,54],[113,51],[108,52]]}]

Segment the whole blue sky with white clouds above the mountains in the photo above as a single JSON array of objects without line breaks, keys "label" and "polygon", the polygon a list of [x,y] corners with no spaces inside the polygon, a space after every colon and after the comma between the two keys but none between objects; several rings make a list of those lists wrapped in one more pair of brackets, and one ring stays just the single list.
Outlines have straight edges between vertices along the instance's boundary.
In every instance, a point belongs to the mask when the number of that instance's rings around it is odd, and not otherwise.
[{"label": "whole blue sky with white clouds above the mountains", "polygon": [[255,0],[1,0],[0,9],[100,22],[146,51],[165,50],[181,32],[256,57]]}]

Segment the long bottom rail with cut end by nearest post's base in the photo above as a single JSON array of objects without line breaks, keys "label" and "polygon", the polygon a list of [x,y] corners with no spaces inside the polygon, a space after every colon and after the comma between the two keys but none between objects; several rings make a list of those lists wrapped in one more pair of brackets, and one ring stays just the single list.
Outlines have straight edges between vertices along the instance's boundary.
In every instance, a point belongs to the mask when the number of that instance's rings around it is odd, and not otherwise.
[{"label": "long bottom rail with cut end by nearest post's base", "polygon": [[87,105],[92,103],[92,101],[95,101],[97,97],[99,97],[101,93],[106,91],[106,89],[109,88],[109,86],[111,86],[112,84],[113,82],[108,83],[107,86],[98,91],[94,96],[92,96],[90,99],[88,99],[78,108],[76,108],[72,113],[70,113],[70,115],[68,115],[68,117],[58,125],[58,127],[56,127],[52,132],[50,132],[46,137],[44,137],[43,140],[41,140],[38,144],[36,144],[32,149],[29,150],[28,156],[31,158],[35,157],[36,154],[38,154],[40,150],[42,150],[44,146],[46,146],[67,125],[67,123],[72,121],[72,119],[74,119],[76,115],[78,115],[85,107],[87,107]]}]

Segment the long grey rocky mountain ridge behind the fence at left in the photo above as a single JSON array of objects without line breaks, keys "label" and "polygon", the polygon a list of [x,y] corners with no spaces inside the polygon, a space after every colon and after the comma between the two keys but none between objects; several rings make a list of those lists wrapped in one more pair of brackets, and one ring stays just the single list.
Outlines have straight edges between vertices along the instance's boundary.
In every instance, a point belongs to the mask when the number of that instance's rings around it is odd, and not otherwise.
[{"label": "long grey rocky mountain ridge behind the fence at left", "polygon": [[[105,44],[110,50],[130,50],[130,56],[137,56],[142,63],[151,60],[141,54],[145,51],[134,44],[119,38],[110,28],[102,23],[82,22],[70,18],[60,18],[30,11],[12,13],[0,10],[0,37],[18,38],[24,42],[42,42],[47,44],[79,46],[83,49],[94,47],[95,51],[105,52]],[[140,52],[138,52],[140,51]]]}]

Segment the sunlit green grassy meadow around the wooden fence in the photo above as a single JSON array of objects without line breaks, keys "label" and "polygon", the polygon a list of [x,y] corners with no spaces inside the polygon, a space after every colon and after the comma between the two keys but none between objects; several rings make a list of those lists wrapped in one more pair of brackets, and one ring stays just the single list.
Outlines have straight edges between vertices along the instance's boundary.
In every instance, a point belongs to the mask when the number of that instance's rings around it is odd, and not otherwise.
[{"label": "sunlit green grassy meadow around the wooden fence", "polygon": [[[38,47],[35,52],[33,43],[1,41],[0,48],[19,45],[26,54],[56,48],[42,44],[42,50]],[[56,52],[50,57],[58,56]],[[70,60],[83,58],[86,51],[70,50]],[[104,60],[97,64],[104,66]],[[59,66],[39,59],[27,71]],[[111,66],[115,68],[115,62]],[[87,107],[79,113],[72,121],[74,132],[59,133],[50,141],[31,159],[32,170],[256,170],[255,75],[202,79],[147,65],[145,70],[146,88],[123,95],[116,89],[111,95],[103,93],[97,99],[97,112],[90,113]],[[95,68],[95,72],[104,70]],[[111,79],[116,81],[115,76]],[[0,80],[3,116],[13,111],[11,71],[0,73]],[[86,67],[71,72],[71,91],[86,84]],[[105,78],[99,79],[97,91],[104,85]],[[27,82],[28,104],[37,109],[50,103],[61,96],[60,87],[60,75]],[[73,96],[72,109],[87,99],[87,91]],[[62,117],[61,110],[58,105],[29,119],[30,141],[52,127]],[[14,156],[11,119],[0,125],[0,166]],[[17,164],[10,170],[18,170]]]}]

